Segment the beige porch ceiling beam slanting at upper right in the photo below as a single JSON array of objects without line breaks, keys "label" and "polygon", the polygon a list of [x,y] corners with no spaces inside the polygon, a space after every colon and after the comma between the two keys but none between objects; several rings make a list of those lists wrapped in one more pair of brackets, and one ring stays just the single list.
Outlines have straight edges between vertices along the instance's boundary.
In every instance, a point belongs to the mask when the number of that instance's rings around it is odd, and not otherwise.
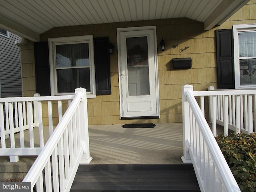
[{"label": "beige porch ceiling beam slanting at upper right", "polygon": [[250,0],[224,0],[204,22],[204,30],[221,25]]}]

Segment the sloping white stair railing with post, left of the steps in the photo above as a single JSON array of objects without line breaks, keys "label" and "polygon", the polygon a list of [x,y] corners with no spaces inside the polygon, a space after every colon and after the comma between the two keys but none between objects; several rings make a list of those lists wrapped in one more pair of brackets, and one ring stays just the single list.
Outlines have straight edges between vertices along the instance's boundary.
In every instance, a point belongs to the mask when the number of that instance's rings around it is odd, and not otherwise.
[{"label": "sloping white stair railing with post, left of the steps", "polygon": [[[75,90],[75,97],[30,168],[23,182],[32,191],[69,192],[79,163],[89,163],[86,89]],[[59,109],[60,110],[60,109]]]}]

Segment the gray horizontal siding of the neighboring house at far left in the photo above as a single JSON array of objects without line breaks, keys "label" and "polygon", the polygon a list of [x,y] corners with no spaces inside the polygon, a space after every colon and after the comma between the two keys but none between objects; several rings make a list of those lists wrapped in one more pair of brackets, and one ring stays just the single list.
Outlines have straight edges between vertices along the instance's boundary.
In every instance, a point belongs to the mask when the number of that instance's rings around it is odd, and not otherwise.
[{"label": "gray horizontal siding of the neighboring house at far left", "polygon": [[0,36],[0,96],[20,97],[21,62],[20,47],[15,45],[19,36],[9,33],[9,38]]}]

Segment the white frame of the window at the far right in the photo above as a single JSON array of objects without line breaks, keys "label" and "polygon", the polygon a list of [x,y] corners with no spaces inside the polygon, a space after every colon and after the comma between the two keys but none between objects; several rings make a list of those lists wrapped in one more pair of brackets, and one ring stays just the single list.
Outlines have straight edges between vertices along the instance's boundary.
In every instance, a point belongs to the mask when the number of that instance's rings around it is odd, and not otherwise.
[{"label": "white frame of the window at the far right", "polygon": [[239,32],[249,32],[249,31],[256,32],[256,24],[244,24],[244,25],[234,25],[233,26],[234,72],[235,72],[235,88],[236,89],[256,88],[256,84],[254,84],[254,85],[241,85],[240,84],[240,62],[239,62],[240,57],[239,57],[238,33]]}]

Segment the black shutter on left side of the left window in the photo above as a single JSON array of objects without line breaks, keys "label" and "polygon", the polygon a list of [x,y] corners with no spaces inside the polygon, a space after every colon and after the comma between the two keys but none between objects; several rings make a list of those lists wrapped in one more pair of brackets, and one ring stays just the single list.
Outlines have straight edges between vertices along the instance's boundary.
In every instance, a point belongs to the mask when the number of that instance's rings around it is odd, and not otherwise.
[{"label": "black shutter on left side of the left window", "polygon": [[48,42],[35,42],[36,93],[50,96],[50,64]]}]

